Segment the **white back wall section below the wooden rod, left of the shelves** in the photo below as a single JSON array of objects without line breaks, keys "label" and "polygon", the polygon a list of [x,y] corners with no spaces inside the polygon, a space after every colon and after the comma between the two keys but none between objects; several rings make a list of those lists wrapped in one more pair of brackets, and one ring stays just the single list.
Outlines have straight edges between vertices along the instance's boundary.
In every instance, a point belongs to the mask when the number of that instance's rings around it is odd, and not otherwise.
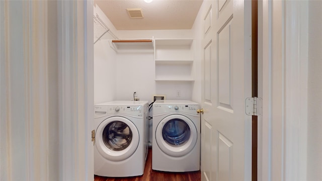
[{"label": "white back wall section below the wooden rod, left of the shelves", "polygon": [[140,101],[151,103],[155,94],[153,50],[121,52],[116,60],[117,100],[133,100],[136,92]]}]

